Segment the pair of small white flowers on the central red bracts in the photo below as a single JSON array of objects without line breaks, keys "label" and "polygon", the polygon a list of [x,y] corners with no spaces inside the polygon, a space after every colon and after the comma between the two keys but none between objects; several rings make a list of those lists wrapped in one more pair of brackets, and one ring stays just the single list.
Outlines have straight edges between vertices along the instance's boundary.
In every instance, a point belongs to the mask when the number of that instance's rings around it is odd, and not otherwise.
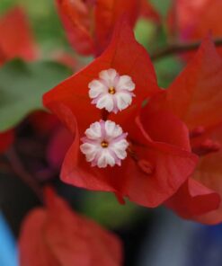
[{"label": "pair of small white flowers on the central red bracts", "polygon": [[[89,84],[89,96],[93,104],[108,112],[122,111],[129,107],[135,84],[129,75],[119,75],[115,69],[102,70],[100,79]],[[121,160],[127,156],[129,143],[127,133],[123,133],[119,125],[111,120],[94,122],[85,131],[82,138],[84,144],[80,146],[87,162],[100,168],[115,164],[121,165]]]}]

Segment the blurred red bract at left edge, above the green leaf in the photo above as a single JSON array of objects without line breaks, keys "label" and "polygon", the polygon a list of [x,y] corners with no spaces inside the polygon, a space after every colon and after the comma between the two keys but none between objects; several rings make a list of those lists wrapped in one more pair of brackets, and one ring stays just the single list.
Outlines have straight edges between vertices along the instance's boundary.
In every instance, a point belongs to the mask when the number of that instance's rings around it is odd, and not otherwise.
[{"label": "blurred red bract at left edge, above the green leaf", "polygon": [[14,8],[0,18],[0,32],[0,64],[12,58],[36,58],[36,47],[22,9]]}]

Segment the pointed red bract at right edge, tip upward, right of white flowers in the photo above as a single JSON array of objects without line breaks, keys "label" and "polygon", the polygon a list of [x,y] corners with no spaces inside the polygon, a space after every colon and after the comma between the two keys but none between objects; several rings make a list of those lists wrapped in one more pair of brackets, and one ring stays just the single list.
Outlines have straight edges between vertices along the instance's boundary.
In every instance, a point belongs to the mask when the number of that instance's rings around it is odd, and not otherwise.
[{"label": "pointed red bract at right edge, tip upward, right of white flowers", "polygon": [[208,37],[164,95],[150,104],[154,110],[172,111],[191,130],[208,128],[221,121],[221,87],[222,59]]}]

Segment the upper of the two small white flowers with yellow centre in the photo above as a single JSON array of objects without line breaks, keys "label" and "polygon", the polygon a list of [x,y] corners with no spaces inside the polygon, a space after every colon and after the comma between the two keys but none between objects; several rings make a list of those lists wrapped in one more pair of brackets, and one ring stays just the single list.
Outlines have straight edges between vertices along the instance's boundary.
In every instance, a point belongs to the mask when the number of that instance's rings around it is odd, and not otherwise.
[{"label": "upper of the two small white flowers with yellow centre", "polygon": [[117,113],[126,109],[135,96],[135,90],[129,75],[119,75],[115,69],[103,70],[99,79],[94,79],[89,84],[89,96],[99,109]]}]

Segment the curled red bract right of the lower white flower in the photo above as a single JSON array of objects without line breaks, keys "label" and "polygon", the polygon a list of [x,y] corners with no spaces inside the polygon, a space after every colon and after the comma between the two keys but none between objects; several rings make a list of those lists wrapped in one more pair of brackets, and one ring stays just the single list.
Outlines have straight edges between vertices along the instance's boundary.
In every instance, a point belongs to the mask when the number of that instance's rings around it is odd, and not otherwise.
[{"label": "curled red bract right of the lower white flower", "polygon": [[[146,138],[137,136],[137,141],[142,142],[142,145],[135,145],[134,151],[140,162],[147,162],[154,169],[152,172],[151,168],[147,178],[146,168],[143,174],[134,173],[135,179],[131,178],[134,182],[131,187],[134,188],[134,197],[139,195],[137,197],[140,200],[146,197],[143,200],[147,206],[156,207],[164,199],[171,197],[193,173],[197,157],[189,152],[188,130],[185,125],[171,114],[159,112],[149,115],[148,108],[147,104],[147,108],[142,109],[138,129],[135,129],[137,134],[140,129]],[[140,167],[140,172],[141,170],[143,167]]]}]

